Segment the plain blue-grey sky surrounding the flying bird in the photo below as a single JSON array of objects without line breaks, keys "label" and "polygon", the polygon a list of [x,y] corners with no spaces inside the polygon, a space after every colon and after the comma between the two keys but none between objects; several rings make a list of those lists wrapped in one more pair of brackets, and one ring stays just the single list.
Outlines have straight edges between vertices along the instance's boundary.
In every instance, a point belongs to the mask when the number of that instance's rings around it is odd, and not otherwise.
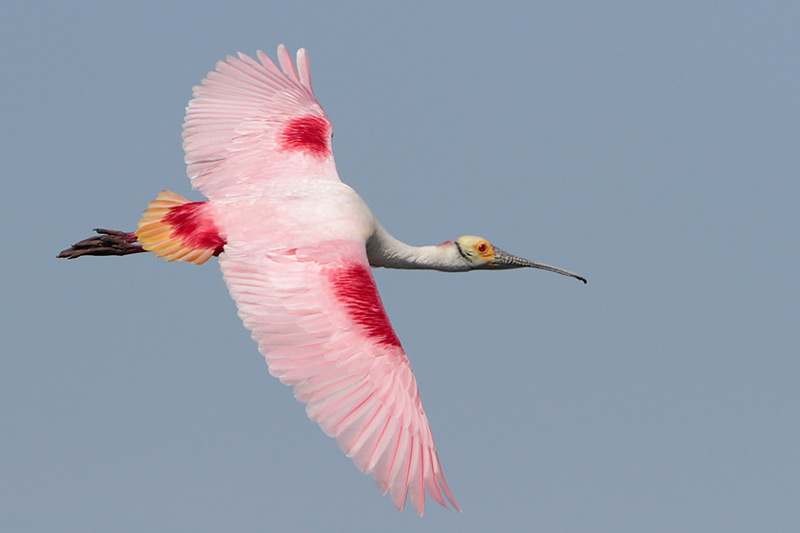
[{"label": "plain blue-grey sky surrounding the flying bird", "polygon": [[[800,3],[334,4],[4,9],[2,529],[796,531]],[[279,43],[396,237],[589,279],[375,272],[463,514],[381,496],[215,260],[55,258],[200,200],[192,86]]]}]

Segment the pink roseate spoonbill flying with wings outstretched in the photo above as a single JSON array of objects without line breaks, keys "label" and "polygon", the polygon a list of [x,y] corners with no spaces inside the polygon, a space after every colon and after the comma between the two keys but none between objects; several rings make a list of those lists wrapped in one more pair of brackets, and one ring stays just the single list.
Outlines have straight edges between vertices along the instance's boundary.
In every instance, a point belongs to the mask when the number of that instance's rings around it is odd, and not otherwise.
[{"label": "pink roseate spoonbill flying with wings outstretched", "polygon": [[294,387],[308,416],[398,509],[408,495],[421,516],[426,492],[459,509],[369,267],[531,267],[586,280],[480,237],[422,247],[392,237],[339,180],[306,51],[297,52],[297,71],[283,45],[282,72],[257,57],[218,62],[186,110],[187,172],[208,201],[162,191],[135,232],[96,230],[59,257],[147,251],[202,264],[219,256],[270,373]]}]

